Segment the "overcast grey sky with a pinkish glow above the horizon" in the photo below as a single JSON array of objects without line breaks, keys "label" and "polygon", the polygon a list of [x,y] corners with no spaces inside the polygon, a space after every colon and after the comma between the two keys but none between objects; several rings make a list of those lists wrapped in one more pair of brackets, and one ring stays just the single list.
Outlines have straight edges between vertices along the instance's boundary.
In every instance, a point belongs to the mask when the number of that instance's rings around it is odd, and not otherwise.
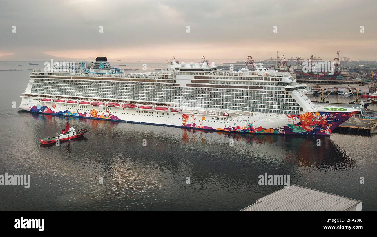
[{"label": "overcast grey sky with a pinkish glow above the horizon", "polygon": [[377,1],[1,0],[0,37],[0,56],[14,60],[42,53],[265,60],[277,50],[286,58],[333,60],[340,51],[340,57],[377,60]]}]

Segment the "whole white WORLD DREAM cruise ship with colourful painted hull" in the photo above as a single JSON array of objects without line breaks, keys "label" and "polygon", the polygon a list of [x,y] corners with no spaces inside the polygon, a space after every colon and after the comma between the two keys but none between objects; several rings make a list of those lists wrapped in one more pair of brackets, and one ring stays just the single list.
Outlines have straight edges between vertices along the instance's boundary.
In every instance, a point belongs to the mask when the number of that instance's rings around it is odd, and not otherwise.
[{"label": "whole white WORLD DREAM cruise ship with colourful painted hull", "polygon": [[140,126],[313,135],[331,134],[360,111],[316,105],[288,72],[252,66],[225,71],[215,62],[173,60],[158,72],[126,73],[97,57],[34,69],[19,108]]}]

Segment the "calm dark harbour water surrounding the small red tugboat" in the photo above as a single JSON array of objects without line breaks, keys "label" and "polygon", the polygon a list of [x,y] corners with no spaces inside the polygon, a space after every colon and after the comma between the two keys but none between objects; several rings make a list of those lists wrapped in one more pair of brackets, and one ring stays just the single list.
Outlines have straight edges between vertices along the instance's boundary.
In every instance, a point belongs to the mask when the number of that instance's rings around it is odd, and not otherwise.
[{"label": "calm dark harbour water surrounding the small red tugboat", "polygon": [[[1,211],[238,211],[283,187],[259,186],[258,176],[265,172],[289,174],[291,184],[362,200],[363,211],[377,211],[376,135],[333,133],[320,137],[317,146],[318,138],[311,136],[32,114],[12,108],[13,101],[20,103],[28,74],[0,72],[0,174],[31,176],[29,189],[0,186]],[[67,120],[88,132],[61,146],[40,146],[38,139],[54,135]]]}]

